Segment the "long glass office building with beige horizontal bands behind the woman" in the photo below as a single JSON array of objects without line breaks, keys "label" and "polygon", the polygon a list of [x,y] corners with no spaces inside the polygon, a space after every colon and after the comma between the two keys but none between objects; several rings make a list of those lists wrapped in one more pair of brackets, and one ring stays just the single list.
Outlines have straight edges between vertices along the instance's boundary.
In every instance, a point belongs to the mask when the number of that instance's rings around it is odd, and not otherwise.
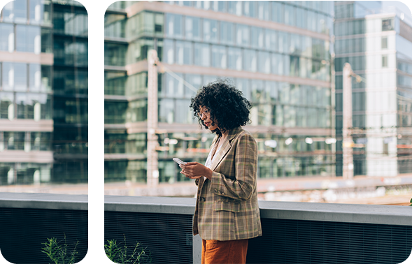
[{"label": "long glass office building with beige horizontal bands behind the woman", "polygon": [[334,175],[332,0],[1,1],[0,155],[18,157],[1,184],[144,183],[150,49],[175,73],[158,79],[159,182],[187,180],[173,157],[206,160],[189,104],[218,78],[253,103],[258,177]]}]

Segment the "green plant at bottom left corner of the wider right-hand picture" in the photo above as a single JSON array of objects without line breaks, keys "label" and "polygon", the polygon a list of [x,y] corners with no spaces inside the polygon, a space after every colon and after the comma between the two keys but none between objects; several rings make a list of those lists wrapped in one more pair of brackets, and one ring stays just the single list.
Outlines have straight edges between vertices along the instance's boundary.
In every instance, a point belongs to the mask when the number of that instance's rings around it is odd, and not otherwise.
[{"label": "green plant at bottom left corner of the wider right-hand picture", "polygon": [[132,248],[132,253],[130,253],[130,247],[127,247],[126,237],[123,244],[118,244],[117,240],[107,240],[107,242],[108,244],[101,245],[104,247],[101,254],[108,258],[108,262],[104,261],[104,264],[143,264],[152,262],[150,252],[141,247],[138,242],[136,242],[134,249]]}]

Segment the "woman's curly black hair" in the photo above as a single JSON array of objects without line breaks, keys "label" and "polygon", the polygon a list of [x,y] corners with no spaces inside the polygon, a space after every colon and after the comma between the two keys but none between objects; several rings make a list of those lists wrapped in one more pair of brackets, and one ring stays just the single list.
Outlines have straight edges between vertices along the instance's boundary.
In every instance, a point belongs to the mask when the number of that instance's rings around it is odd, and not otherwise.
[{"label": "woman's curly black hair", "polygon": [[199,117],[201,107],[208,108],[212,121],[218,123],[219,129],[212,131],[218,135],[250,123],[249,112],[252,104],[228,80],[217,80],[204,85],[192,98],[190,108],[193,116],[201,126],[208,129]]}]

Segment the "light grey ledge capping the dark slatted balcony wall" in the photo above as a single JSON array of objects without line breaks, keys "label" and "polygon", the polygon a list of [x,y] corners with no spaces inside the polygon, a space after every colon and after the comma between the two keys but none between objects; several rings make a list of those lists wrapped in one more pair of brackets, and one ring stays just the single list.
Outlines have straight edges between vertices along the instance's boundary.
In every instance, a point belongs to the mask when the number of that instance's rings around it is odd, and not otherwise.
[{"label": "light grey ledge capping the dark slatted balcony wall", "polygon": [[[193,214],[194,198],[0,193],[0,207]],[[412,207],[260,201],[262,218],[412,226]]]}]

